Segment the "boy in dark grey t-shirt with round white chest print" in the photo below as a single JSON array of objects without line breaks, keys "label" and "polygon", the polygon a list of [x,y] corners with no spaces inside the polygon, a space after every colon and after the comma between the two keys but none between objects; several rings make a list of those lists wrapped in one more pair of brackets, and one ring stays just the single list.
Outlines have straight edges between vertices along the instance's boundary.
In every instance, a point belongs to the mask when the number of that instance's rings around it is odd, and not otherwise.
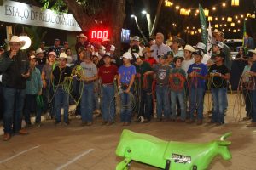
[{"label": "boy in dark grey t-shirt with round white chest print", "polygon": [[[154,65],[153,71],[155,75],[155,93],[156,93],[156,113],[157,120],[168,122],[170,118],[170,102],[169,102],[169,75],[171,67],[166,63],[167,56],[159,55],[160,64]],[[162,120],[162,111],[164,118]]]}]

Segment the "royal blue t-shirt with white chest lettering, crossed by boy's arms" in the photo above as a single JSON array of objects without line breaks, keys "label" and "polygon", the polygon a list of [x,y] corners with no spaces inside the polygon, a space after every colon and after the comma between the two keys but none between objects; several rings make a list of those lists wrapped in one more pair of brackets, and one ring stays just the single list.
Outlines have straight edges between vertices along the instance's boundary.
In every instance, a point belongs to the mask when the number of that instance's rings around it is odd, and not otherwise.
[{"label": "royal blue t-shirt with white chest lettering, crossed by boy's arms", "polygon": [[[189,65],[188,74],[191,72],[197,72],[199,75],[205,77],[207,76],[207,65],[201,63],[201,64],[192,64]],[[200,77],[191,78],[190,81],[191,88],[205,88],[206,87],[206,80],[201,79]]]}]

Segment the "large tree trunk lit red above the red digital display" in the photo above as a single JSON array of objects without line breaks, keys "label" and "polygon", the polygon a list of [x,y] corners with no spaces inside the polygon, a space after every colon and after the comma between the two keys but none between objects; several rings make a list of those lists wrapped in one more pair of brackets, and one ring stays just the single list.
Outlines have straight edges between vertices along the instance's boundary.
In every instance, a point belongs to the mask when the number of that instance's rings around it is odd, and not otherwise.
[{"label": "large tree trunk lit red above the red digital display", "polygon": [[39,0],[44,8],[73,14],[83,31],[95,27],[111,29],[111,41],[120,52],[121,29],[125,20],[125,0]]}]

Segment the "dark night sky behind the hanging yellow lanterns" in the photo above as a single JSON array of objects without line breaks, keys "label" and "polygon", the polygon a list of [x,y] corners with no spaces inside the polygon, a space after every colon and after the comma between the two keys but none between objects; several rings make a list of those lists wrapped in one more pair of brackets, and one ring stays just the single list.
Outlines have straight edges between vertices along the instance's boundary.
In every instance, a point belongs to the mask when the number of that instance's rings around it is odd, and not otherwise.
[{"label": "dark night sky behind the hanging yellow lanterns", "polygon": [[[154,14],[156,12],[157,3],[158,0],[149,0],[150,1],[150,14],[152,17],[152,20],[154,20]],[[170,7],[165,7],[164,4],[162,6],[161,14],[160,14],[160,22],[157,26],[157,31],[163,32],[165,35],[172,34],[177,35],[178,32],[182,32],[184,28],[187,26],[195,26],[195,28],[200,28],[200,20],[199,15],[195,17],[195,10],[198,8],[198,4],[201,3],[201,6],[203,8],[207,8],[210,10],[210,14],[213,17],[228,17],[228,16],[235,16],[235,15],[241,15],[241,14],[247,14],[247,13],[255,13],[255,6],[253,4],[253,0],[240,0],[240,6],[239,7],[231,7],[231,0],[170,0],[174,3],[174,5]],[[165,1],[164,1],[165,3]],[[226,3],[226,7],[222,7],[222,3]],[[191,14],[189,16],[181,16],[179,12],[175,9],[175,6],[179,5],[182,8],[192,8]],[[125,20],[125,27],[128,29],[131,29],[131,35],[139,35],[142,37],[137,29],[137,26],[135,24],[134,19],[131,19],[131,14],[136,14],[138,23],[142,27],[143,32],[145,35],[148,35],[148,25],[146,17],[141,14],[141,11],[144,9],[143,0],[136,0],[134,1],[133,11],[131,9],[130,3],[126,5],[126,20]],[[217,10],[213,11],[212,7],[216,7]],[[234,20],[234,19],[233,19]],[[172,26],[172,23],[177,24],[177,28],[174,28]],[[226,19],[224,21],[218,20],[217,22],[213,20],[212,25],[215,24],[225,24]],[[236,23],[236,21],[235,21]],[[229,23],[227,23],[229,24]],[[247,31],[249,33],[255,33],[255,19],[249,19],[247,20]],[[241,32],[233,33],[229,31],[224,31],[226,37],[229,38],[241,38],[242,35],[242,29],[243,29],[243,20],[241,19],[241,24],[236,25],[236,29],[241,29]],[[227,30],[227,29],[226,29]],[[186,37],[186,35],[182,34],[182,37]],[[197,38],[200,38],[200,35],[198,35]],[[189,38],[191,39],[191,38]]]}]

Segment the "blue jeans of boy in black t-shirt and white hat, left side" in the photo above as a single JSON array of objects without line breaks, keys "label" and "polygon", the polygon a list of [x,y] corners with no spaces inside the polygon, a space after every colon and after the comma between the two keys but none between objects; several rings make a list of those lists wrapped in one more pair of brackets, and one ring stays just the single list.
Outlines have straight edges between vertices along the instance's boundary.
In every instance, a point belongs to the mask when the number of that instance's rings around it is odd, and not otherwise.
[{"label": "blue jeans of boy in black t-shirt and white hat, left side", "polygon": [[68,107],[69,107],[69,95],[61,87],[56,89],[55,93],[55,111],[56,111],[56,122],[61,122],[61,105],[64,109],[64,122],[68,121]]}]

